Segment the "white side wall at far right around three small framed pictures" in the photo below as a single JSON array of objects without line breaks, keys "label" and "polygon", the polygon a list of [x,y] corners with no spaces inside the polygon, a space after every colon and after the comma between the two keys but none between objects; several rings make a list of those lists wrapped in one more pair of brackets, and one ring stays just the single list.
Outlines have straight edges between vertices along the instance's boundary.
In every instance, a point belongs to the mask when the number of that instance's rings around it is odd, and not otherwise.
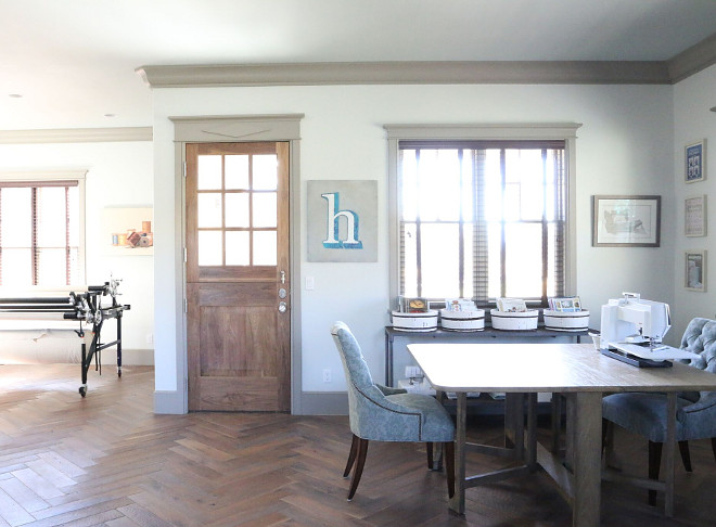
[{"label": "white side wall at far right around three small framed pictures", "polygon": [[[682,80],[674,87],[674,318],[673,332],[683,333],[694,317],[716,318],[716,66],[711,66]],[[687,144],[706,139],[706,180],[686,183],[683,178],[685,152]],[[708,223],[706,236],[687,237],[683,235],[683,201],[687,197],[706,195]],[[709,210],[711,208],[711,210]],[[685,252],[706,249],[706,292],[696,293],[683,288]]]}]

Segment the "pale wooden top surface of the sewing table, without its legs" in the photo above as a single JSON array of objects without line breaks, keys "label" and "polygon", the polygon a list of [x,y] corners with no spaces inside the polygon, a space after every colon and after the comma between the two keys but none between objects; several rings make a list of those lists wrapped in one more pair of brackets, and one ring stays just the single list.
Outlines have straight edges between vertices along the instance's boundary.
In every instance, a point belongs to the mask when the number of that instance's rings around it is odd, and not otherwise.
[{"label": "pale wooden top surface of the sewing table, without its legs", "polygon": [[431,384],[444,391],[716,390],[716,375],[674,363],[636,368],[591,344],[410,344]]}]

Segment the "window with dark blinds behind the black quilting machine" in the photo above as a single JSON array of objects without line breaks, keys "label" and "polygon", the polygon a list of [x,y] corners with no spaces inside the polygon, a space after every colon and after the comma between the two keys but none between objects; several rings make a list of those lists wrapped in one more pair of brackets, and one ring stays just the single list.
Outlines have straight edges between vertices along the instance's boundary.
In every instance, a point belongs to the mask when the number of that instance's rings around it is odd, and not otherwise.
[{"label": "window with dark blinds behind the black quilting machine", "polygon": [[84,175],[0,177],[0,286],[82,283],[82,219]]}]

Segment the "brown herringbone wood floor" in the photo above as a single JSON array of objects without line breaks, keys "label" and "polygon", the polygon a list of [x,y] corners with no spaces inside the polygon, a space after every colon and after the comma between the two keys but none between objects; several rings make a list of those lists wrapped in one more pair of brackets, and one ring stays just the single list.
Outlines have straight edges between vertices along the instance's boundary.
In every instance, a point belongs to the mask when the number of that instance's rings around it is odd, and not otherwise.
[{"label": "brown herringbone wood floor", "polygon": [[[0,526],[566,526],[571,512],[545,474],[468,490],[447,512],[445,477],[420,445],[371,444],[353,502],[341,477],[350,445],[343,416],[152,413],[153,370],[0,365]],[[542,434],[547,434],[545,423]],[[471,435],[500,437],[475,419]],[[545,437],[545,440],[548,438]],[[645,445],[616,433],[625,468],[645,473]],[[716,462],[707,441],[679,465],[676,518],[645,491],[603,484],[605,526],[716,524]],[[498,462],[475,457],[470,470]],[[661,500],[660,500],[661,504]]]}]

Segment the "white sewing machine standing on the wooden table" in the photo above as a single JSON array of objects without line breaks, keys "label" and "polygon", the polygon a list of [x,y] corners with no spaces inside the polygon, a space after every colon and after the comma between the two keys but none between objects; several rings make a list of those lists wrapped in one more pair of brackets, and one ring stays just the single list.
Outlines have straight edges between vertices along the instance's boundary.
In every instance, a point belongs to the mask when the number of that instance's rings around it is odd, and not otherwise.
[{"label": "white sewing machine standing on the wooden table", "polygon": [[[667,359],[692,359],[695,356],[662,339],[672,327],[668,304],[643,300],[638,293],[623,293],[602,306],[602,354],[639,367],[668,367]],[[616,350],[616,351],[614,351]],[[641,360],[639,360],[641,359]]]}]

